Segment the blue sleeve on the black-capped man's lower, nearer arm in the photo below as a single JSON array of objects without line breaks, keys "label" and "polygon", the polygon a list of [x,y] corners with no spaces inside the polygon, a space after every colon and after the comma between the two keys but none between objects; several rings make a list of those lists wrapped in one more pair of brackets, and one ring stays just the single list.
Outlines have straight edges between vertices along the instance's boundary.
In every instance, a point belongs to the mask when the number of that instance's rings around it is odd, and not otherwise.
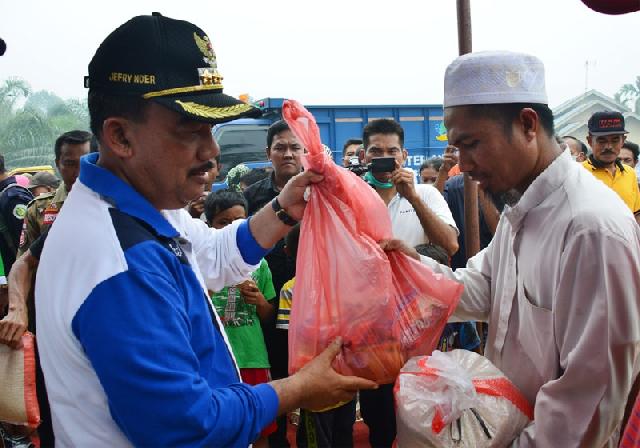
[{"label": "blue sleeve on the black-capped man's lower, nearer arm", "polygon": [[[194,346],[207,338],[197,333],[185,300],[166,278],[130,270],[94,288],[72,329],[114,421],[134,445],[246,447],[275,420],[278,397],[268,384],[228,377],[214,385],[202,376],[228,353],[217,350],[212,366],[200,365]],[[210,319],[205,311],[200,318]]]}]

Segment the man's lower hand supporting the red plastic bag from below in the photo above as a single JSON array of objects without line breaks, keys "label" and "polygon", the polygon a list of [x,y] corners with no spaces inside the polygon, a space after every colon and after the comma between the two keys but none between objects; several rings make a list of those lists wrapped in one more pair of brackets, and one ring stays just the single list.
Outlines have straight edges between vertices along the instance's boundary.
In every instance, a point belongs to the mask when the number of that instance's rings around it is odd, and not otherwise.
[{"label": "man's lower hand supporting the red plastic bag from below", "polygon": [[305,409],[325,409],[351,400],[360,389],[376,389],[378,385],[357,376],[344,376],[331,367],[340,353],[342,339],[337,338],[294,376],[300,381],[301,403]]}]

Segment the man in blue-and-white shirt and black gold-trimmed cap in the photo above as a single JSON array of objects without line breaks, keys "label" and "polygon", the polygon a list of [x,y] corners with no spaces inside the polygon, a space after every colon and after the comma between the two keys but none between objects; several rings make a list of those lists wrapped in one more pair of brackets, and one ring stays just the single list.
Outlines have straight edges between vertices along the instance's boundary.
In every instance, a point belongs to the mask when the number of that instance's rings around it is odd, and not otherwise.
[{"label": "man in blue-and-white shirt and black gold-trimmed cap", "polygon": [[183,207],[202,194],[220,151],[212,125],[258,113],[224,95],[221,81],[204,32],[157,13],[113,31],[89,65],[100,152],[82,159],[36,282],[57,444],[247,446],[278,414],[375,387],[333,371],[339,340],[287,379],[240,383],[207,289],[255,270],[322,176],[294,177],[222,230],[192,219]]}]

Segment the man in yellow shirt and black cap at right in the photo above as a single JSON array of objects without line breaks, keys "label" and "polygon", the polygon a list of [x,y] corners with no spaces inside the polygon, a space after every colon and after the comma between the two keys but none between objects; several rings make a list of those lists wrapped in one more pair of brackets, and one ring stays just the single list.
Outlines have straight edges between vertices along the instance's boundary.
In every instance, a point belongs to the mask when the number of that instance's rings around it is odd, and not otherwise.
[{"label": "man in yellow shirt and black cap at right", "polygon": [[627,204],[640,222],[640,191],[633,169],[625,167],[618,159],[627,139],[624,116],[620,112],[596,112],[589,118],[587,141],[593,153],[582,165]]}]

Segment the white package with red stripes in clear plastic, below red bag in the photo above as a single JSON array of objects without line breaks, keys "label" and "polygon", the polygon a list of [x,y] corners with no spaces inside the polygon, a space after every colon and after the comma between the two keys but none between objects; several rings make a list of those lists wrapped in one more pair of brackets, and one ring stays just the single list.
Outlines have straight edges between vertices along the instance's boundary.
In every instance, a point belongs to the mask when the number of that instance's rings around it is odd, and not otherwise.
[{"label": "white package with red stripes in clear plastic, below red bag", "polygon": [[467,350],[411,358],[394,394],[398,448],[505,447],[533,419],[513,383]]}]

